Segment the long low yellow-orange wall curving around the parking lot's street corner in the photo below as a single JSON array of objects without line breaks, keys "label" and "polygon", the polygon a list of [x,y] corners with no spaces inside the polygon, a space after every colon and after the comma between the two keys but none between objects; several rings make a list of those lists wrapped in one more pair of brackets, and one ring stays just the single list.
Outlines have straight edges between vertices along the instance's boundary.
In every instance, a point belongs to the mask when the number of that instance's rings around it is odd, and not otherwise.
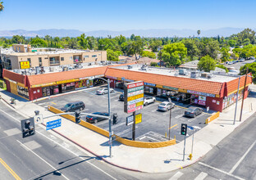
[{"label": "long low yellow-orange wall curving around the parking lot's street corner", "polygon": [[[64,113],[62,110],[58,110],[53,106],[48,106],[48,110],[56,114]],[[61,116],[75,122],[75,117],[73,115],[61,115]],[[105,129],[98,128],[97,126],[94,126],[93,124],[89,124],[84,120],[81,120],[80,125],[84,126],[85,128],[89,128],[90,130],[93,130],[96,133],[102,134],[105,137],[109,137],[109,133]],[[167,142],[137,142],[137,141],[131,141],[131,140],[119,137],[115,134],[112,137],[115,137],[113,141],[121,142],[126,146],[134,146],[134,147],[142,147],[142,148],[158,148],[158,147],[171,146],[176,144],[176,139],[171,139],[170,141],[167,141]]]}]

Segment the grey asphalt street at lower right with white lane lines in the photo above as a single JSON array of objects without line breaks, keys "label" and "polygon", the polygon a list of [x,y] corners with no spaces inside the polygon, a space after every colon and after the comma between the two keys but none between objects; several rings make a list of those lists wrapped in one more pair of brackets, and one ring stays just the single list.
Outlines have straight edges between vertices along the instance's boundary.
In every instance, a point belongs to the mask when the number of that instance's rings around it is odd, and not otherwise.
[{"label": "grey asphalt street at lower right with white lane lines", "polygon": [[256,114],[209,151],[198,163],[170,179],[256,179]]}]

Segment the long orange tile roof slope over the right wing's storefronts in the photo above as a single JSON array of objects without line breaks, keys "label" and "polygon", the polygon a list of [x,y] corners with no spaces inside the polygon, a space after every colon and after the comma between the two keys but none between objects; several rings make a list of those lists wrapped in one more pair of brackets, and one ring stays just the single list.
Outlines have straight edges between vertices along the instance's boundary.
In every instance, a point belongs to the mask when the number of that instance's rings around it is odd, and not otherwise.
[{"label": "long orange tile roof slope over the right wing's storefronts", "polygon": [[141,80],[146,83],[154,83],[173,88],[183,88],[187,90],[207,92],[211,94],[220,94],[223,84],[206,80],[189,79],[162,74],[151,74],[131,70],[118,70],[114,68],[108,68],[106,75],[130,80]]}]

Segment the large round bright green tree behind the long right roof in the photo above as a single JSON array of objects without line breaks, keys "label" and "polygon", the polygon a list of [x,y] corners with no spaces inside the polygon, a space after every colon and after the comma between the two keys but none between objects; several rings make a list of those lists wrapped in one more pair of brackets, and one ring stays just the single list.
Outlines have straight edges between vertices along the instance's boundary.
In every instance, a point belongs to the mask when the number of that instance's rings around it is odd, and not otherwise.
[{"label": "large round bright green tree behind the long right roof", "polygon": [[187,48],[183,43],[171,43],[163,46],[162,59],[170,65],[181,65],[187,55]]}]

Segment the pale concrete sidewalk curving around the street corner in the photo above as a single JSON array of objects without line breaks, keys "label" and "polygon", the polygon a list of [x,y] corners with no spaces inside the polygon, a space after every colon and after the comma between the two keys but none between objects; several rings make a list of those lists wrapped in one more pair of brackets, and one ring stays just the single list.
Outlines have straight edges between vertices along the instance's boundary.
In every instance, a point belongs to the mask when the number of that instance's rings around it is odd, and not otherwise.
[{"label": "pale concrete sidewalk curving around the street corner", "polygon": [[[199,160],[208,151],[213,149],[218,142],[221,142],[229,133],[234,131],[245,119],[249,118],[256,111],[255,92],[256,86],[251,86],[254,91],[254,96],[248,97],[244,102],[244,110],[242,121],[240,119],[241,101],[238,102],[236,122],[233,125],[235,104],[224,110],[220,116],[209,123],[206,127],[194,133],[194,150],[193,159],[189,160],[188,156],[191,153],[192,136],[186,138],[185,161],[183,159],[184,141],[174,146],[162,148],[137,148],[122,145],[119,142],[112,143],[112,158],[109,158],[108,138],[103,137],[98,133],[84,128],[78,124],[74,124],[70,120],[62,118],[62,127],[56,128],[55,131],[62,136],[70,139],[72,142],[82,146],[85,150],[90,151],[94,155],[100,156],[103,160],[126,169],[133,169],[148,173],[164,173],[174,169],[180,169]],[[15,95],[10,92],[0,91],[3,99],[10,101]],[[25,116],[34,116],[34,110],[40,110],[43,116],[53,115],[47,109],[35,105],[30,101],[24,101],[21,97],[15,97],[16,110]],[[4,102],[5,103],[5,102]],[[8,105],[7,105],[8,106]],[[11,106],[10,106],[11,107]],[[253,110],[251,110],[253,107]],[[48,120],[57,119],[57,117]],[[46,123],[47,120],[44,120]],[[192,133],[188,130],[188,133]]]}]

